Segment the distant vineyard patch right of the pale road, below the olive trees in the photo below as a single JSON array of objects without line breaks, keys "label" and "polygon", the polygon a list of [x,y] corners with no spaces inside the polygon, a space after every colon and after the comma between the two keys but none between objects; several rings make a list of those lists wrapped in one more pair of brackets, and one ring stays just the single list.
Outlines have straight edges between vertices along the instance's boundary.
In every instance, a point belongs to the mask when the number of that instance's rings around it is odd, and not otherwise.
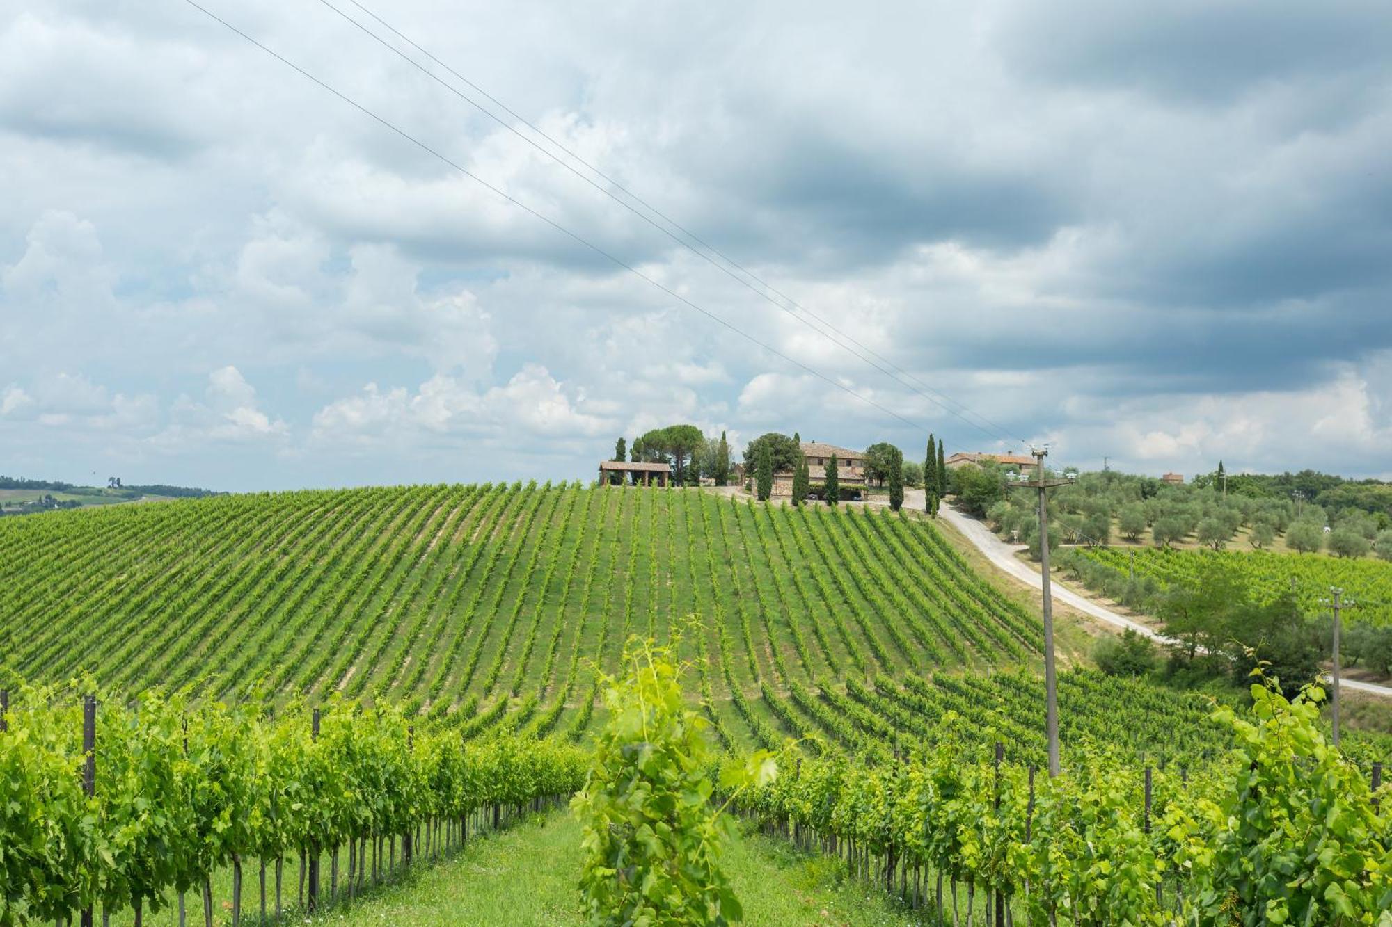
[{"label": "distant vineyard patch right of the pale road, below the olive trees", "polygon": [[[1347,621],[1374,626],[1392,625],[1392,562],[1388,561],[1154,547],[1133,551],[1118,547],[1077,548],[1073,555],[1105,571],[1105,576],[1098,573],[1089,582],[1098,586],[1105,578],[1111,578],[1115,585],[1134,571],[1137,579],[1150,579],[1165,587],[1193,582],[1208,565],[1218,564],[1242,576],[1257,601],[1265,604],[1293,592],[1302,610],[1308,614],[1328,611],[1329,587],[1339,586],[1349,599],[1359,603],[1345,612]],[[1089,568],[1084,565],[1082,569]]]}]

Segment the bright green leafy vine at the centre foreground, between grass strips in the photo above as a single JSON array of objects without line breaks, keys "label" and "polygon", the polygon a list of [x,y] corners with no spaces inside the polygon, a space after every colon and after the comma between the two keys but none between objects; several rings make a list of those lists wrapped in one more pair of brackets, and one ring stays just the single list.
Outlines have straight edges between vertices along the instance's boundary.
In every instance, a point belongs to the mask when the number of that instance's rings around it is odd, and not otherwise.
[{"label": "bright green leafy vine at the centre foreground, between grass strips", "polygon": [[[592,924],[728,924],[742,917],[721,867],[706,721],[686,707],[671,653],[651,643],[607,679],[610,721],[571,807],[585,828],[580,891]],[[763,778],[771,779],[764,770]],[[763,779],[760,779],[763,781]]]}]

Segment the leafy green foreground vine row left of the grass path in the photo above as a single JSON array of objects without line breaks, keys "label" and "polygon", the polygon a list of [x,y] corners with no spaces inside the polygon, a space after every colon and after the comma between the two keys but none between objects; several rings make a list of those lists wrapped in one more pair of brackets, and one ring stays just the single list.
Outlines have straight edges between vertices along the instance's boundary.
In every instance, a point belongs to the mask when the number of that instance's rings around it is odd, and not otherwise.
[{"label": "leafy green foreground vine row left of the grass path", "polygon": [[400,711],[330,708],[320,736],[278,718],[145,693],[100,699],[96,795],[82,795],[81,706],[19,693],[0,734],[0,923],[77,908],[157,912],[249,859],[398,835],[582,782],[583,754],[537,740],[412,735]]}]

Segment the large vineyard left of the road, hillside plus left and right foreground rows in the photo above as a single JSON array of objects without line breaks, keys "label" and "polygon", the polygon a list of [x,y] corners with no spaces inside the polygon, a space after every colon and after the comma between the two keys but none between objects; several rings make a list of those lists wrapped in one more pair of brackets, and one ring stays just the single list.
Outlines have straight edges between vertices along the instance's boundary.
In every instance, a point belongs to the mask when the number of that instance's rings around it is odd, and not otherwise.
[{"label": "large vineyard left of the road, hillside plus left and right foreground rows", "polygon": [[633,637],[682,663],[714,746],[781,756],[741,813],[910,906],[955,912],[960,884],[967,912],[1029,923],[1221,908],[1204,892],[1242,866],[1222,848],[1256,793],[1300,827],[1339,796],[1318,889],[1388,898],[1388,743],[1350,732],[1340,756],[1313,706],[1272,696],[1253,725],[1069,670],[1065,775],[1034,784],[1038,621],[917,516],[372,489],[13,519],[0,551],[0,924],[351,899],[579,788]]}]

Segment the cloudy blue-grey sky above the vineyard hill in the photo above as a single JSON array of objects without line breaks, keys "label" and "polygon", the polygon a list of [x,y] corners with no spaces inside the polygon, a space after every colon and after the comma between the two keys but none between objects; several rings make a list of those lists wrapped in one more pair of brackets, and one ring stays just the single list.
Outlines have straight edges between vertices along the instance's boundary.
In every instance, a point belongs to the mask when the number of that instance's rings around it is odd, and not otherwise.
[{"label": "cloudy blue-grey sky above the vineyard hill", "polygon": [[583,161],[352,0],[199,1],[440,157],[184,0],[6,4],[0,472],[574,479],[692,422],[1392,476],[1385,0],[362,0]]}]

